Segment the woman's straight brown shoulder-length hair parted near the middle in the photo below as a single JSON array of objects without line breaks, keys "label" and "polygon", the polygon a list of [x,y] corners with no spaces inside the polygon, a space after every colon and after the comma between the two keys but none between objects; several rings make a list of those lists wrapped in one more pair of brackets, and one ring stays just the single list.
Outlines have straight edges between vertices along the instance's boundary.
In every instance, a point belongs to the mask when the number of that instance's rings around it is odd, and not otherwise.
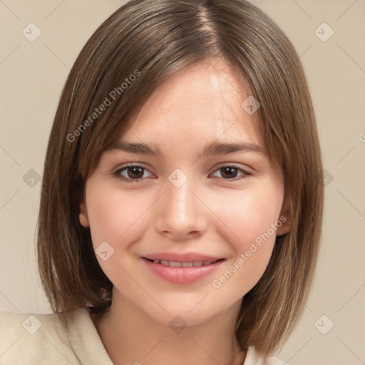
[{"label": "woman's straight brown shoulder-length hair parted near the middle", "polygon": [[[98,264],[90,230],[78,220],[86,179],[101,154],[160,83],[217,57],[245,76],[261,104],[269,158],[292,204],[291,231],[277,237],[266,271],[242,299],[237,340],[242,349],[254,345],[269,353],[294,328],[317,264],[322,156],[299,56],[245,0],[133,0],[83,47],[58,103],[41,187],[38,269],[53,312],[89,305],[101,312],[111,302],[113,284]],[[97,113],[106,99],[110,106]]]}]

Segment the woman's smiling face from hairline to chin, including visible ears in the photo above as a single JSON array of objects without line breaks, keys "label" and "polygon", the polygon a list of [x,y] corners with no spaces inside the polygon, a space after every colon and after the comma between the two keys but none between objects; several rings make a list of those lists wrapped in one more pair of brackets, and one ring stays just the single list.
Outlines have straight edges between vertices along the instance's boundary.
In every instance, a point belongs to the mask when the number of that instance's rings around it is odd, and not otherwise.
[{"label": "woman's smiling face from hairline to chin, including visible ears", "polygon": [[155,90],[101,156],[80,220],[113,302],[161,323],[179,315],[199,324],[237,309],[262,277],[289,217],[257,113],[241,106],[249,96],[227,63],[189,66]]}]

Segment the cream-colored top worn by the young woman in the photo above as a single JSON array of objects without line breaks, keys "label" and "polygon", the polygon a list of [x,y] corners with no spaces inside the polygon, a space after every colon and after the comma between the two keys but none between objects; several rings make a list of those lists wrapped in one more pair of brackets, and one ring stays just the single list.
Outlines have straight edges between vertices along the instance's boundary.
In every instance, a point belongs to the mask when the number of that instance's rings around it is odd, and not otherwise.
[{"label": "cream-colored top worn by the young woman", "polygon": [[[60,314],[0,312],[0,365],[20,364],[113,365],[113,362],[87,308]],[[250,347],[242,365],[283,364],[274,357],[263,359]]]}]

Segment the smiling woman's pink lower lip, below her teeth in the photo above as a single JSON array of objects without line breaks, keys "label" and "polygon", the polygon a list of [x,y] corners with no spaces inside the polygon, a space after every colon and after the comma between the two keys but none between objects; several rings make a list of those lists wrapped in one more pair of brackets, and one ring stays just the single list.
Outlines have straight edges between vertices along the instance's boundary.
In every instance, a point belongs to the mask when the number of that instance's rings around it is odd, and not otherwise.
[{"label": "smiling woman's pink lower lip, below her teeth", "polygon": [[204,265],[200,267],[170,267],[163,264],[157,264],[148,259],[143,258],[143,262],[147,264],[152,272],[158,277],[173,284],[192,284],[197,280],[207,277],[215,272],[215,270],[225,260],[217,261],[213,264]]}]

